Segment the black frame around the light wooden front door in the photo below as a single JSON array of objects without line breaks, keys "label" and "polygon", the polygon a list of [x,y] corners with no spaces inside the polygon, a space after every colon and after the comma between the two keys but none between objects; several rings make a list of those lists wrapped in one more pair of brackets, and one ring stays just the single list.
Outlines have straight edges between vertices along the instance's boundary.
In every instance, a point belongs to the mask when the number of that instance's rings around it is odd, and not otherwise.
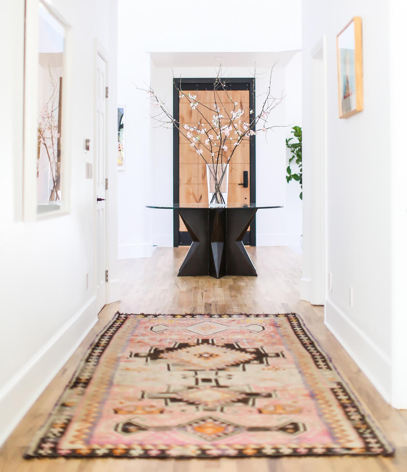
[{"label": "black frame around the light wooden front door", "polygon": [[[214,84],[214,78],[190,78],[182,79],[184,90],[207,90],[208,85]],[[179,102],[179,88],[181,79],[174,78],[174,93],[173,93],[173,112],[174,118],[179,120],[180,118],[180,102]],[[225,79],[224,87],[226,90],[249,90],[249,109],[253,110],[253,113],[249,115],[250,123],[256,116],[255,101],[254,101],[254,90],[255,90],[255,79],[249,78],[228,78]],[[256,202],[256,135],[250,136],[250,203]],[[174,203],[180,202],[180,135],[178,129],[174,126],[173,131],[173,178],[174,178]],[[174,210],[174,247],[180,245],[180,231],[179,231],[179,213]],[[256,218],[250,223],[250,246],[256,245]]]}]

